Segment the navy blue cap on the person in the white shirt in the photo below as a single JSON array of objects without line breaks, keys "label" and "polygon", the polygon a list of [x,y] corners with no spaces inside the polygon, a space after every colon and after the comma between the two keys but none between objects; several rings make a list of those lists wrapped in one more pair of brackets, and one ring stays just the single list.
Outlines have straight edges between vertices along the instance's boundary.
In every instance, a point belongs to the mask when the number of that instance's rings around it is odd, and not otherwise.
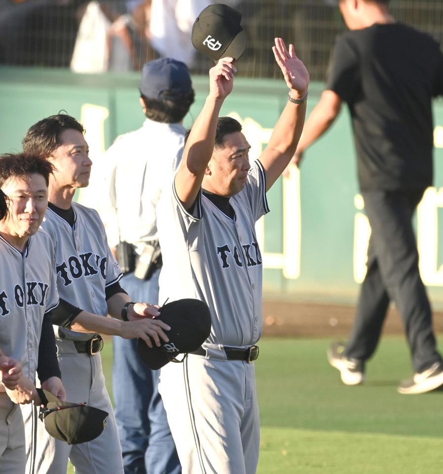
[{"label": "navy blue cap on the person in the white shirt", "polygon": [[192,90],[188,67],[181,61],[161,58],[143,66],[140,92],[149,99],[180,99]]}]

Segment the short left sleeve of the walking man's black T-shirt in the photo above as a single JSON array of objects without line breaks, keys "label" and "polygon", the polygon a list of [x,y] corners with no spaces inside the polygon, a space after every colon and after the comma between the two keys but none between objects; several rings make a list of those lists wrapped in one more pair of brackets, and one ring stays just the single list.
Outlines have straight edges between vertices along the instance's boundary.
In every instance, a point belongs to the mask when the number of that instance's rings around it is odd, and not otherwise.
[{"label": "short left sleeve of the walking man's black T-shirt", "polygon": [[340,36],[332,52],[326,89],[334,91],[344,102],[350,103],[359,83],[358,56],[347,36]]}]

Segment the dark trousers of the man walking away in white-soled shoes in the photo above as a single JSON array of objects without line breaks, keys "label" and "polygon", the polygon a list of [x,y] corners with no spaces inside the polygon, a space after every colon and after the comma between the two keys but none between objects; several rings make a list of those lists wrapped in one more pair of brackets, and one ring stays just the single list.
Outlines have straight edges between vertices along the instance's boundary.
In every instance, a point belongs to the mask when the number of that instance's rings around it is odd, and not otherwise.
[{"label": "dark trousers of the man walking away in white-soled shoes", "polygon": [[412,216],[424,190],[363,192],[371,226],[367,273],[345,355],[366,360],[374,353],[390,301],[402,317],[415,372],[442,361],[432,313],[418,269]]}]

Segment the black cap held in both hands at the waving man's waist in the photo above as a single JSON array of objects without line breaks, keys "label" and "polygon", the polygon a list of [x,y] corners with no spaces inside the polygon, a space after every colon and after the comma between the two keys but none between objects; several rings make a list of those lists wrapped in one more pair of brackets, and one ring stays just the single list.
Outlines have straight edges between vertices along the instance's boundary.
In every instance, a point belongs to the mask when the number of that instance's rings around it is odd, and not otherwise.
[{"label": "black cap held in both hands at the waving man's waist", "polygon": [[179,354],[197,351],[211,332],[211,314],[203,301],[191,298],[172,301],[159,312],[157,319],[171,327],[166,333],[169,342],[160,339],[158,347],[151,338],[153,347],[150,348],[143,339],[137,341],[138,355],[153,370],[160,369]]}]

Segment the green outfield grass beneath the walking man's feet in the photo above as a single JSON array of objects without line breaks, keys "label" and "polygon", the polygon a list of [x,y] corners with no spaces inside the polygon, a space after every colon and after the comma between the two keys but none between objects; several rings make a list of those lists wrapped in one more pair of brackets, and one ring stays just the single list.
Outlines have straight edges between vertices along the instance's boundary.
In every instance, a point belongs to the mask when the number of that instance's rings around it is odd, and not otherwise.
[{"label": "green outfield grass beneath the walking man's feet", "polygon": [[[397,393],[398,382],[411,375],[403,338],[382,340],[359,387],[342,385],[328,365],[329,343],[260,341],[258,473],[441,473],[443,392]],[[102,358],[110,382],[110,342]]]}]

